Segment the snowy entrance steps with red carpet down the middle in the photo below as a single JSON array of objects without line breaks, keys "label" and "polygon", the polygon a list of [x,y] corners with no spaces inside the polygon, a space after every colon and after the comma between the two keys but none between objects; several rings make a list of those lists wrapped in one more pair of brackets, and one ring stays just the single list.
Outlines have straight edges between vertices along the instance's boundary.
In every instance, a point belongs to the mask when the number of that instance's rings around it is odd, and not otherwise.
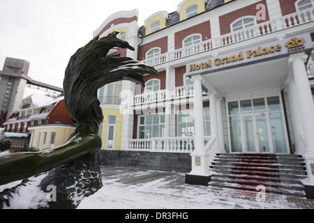
[{"label": "snowy entrance steps with red carpet down the middle", "polygon": [[258,192],[257,186],[264,185],[267,194],[305,197],[301,180],[306,178],[306,164],[301,155],[220,153],[210,170],[209,186]]}]

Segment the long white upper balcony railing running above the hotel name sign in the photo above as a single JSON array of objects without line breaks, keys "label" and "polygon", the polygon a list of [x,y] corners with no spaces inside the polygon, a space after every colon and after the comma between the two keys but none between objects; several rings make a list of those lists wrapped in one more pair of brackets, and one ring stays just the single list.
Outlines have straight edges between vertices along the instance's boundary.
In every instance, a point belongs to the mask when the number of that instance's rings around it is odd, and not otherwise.
[{"label": "long white upper balcony railing running above the hotel name sign", "polygon": [[211,49],[216,49],[234,43],[239,43],[244,40],[248,40],[258,36],[264,36],[269,33],[274,33],[275,31],[281,31],[283,29],[288,29],[294,26],[306,24],[308,22],[313,21],[314,21],[314,8],[302,10],[297,13],[292,13],[290,15],[280,17],[276,20],[269,20],[267,22],[251,26],[246,29],[242,29],[232,33],[227,33],[223,36],[219,36],[218,38],[203,41],[202,43],[190,45],[188,47],[183,47],[181,49],[176,49],[172,52],[167,52],[165,54],[161,54],[160,56],[156,56],[151,59],[146,59],[142,62],[147,63],[149,66],[157,66],[158,64],[174,61],[177,59],[182,59],[186,56],[207,52]]}]

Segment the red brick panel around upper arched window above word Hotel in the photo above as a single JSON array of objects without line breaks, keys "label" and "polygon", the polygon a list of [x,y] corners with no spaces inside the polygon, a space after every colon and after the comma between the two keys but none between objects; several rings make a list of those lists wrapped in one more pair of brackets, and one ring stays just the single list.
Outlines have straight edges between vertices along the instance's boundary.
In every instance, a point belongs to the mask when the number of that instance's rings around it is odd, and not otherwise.
[{"label": "red brick panel around upper arched window above word Hotel", "polygon": [[210,22],[203,22],[197,26],[192,26],[188,29],[184,29],[177,33],[174,33],[175,49],[182,47],[182,41],[187,36],[190,36],[193,33],[198,33],[202,35],[202,41],[208,40],[211,38],[211,24]]}]

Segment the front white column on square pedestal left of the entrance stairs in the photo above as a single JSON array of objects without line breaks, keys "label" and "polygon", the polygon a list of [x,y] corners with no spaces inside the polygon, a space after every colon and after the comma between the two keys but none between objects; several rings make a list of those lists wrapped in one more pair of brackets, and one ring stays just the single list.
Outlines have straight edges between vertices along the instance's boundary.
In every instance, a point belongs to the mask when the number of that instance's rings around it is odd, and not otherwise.
[{"label": "front white column on square pedestal left of the entrance stairs", "polygon": [[194,96],[194,121],[195,121],[195,150],[191,154],[192,171],[190,175],[209,176],[209,155],[204,145],[204,118],[202,100],[202,77],[193,77]]}]

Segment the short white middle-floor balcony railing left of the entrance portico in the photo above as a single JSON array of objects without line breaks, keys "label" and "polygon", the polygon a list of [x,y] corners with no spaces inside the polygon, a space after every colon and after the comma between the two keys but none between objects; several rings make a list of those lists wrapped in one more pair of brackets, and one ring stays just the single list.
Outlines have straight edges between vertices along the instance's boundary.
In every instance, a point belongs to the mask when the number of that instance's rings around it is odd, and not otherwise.
[{"label": "short white middle-floor balcony railing left of the entrance portico", "polygon": [[134,96],[134,105],[142,105],[144,103],[163,102],[165,100],[177,100],[181,98],[193,98],[193,85],[180,86],[172,90],[160,90],[155,92],[146,92],[141,95]]}]

